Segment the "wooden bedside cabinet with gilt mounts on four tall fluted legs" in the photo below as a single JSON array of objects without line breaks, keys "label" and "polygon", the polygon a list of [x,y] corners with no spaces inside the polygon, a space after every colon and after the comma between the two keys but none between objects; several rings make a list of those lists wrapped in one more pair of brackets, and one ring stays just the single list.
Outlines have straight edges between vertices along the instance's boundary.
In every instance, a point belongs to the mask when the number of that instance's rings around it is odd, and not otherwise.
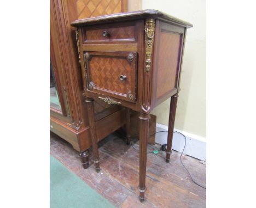
[{"label": "wooden bedside cabinet with gilt mounts on four tall fluted legs", "polygon": [[[71,25],[77,27],[96,170],[100,171],[100,158],[93,96],[109,105],[126,107],[128,120],[130,109],[140,112],[138,189],[139,199],[143,201],[149,113],[171,97],[166,150],[166,162],[169,162],[185,34],[193,25],[157,10],[94,17]],[[129,126],[126,125],[127,143]]]}]

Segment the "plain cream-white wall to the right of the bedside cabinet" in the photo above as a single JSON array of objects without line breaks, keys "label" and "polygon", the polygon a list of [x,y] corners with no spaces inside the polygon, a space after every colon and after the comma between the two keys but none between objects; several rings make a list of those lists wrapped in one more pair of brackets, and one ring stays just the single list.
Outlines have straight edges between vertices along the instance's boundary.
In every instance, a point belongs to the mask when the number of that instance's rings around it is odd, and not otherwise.
[{"label": "plain cream-white wall to the right of the bedside cabinet", "polygon": [[[156,9],[194,25],[188,29],[175,128],[206,137],[206,1],[142,0],[142,9]],[[168,125],[170,99],[153,110]]]}]

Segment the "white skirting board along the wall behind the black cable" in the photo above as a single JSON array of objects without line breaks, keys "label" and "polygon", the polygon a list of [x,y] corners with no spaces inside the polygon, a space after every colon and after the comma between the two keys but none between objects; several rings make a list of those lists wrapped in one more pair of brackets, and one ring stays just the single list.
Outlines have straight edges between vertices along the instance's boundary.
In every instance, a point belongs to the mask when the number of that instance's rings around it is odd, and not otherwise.
[{"label": "white skirting board along the wall behind the black cable", "polygon": [[[156,123],[156,132],[158,131],[168,131],[168,126]],[[177,130],[174,131],[181,132],[187,137],[187,144],[184,150],[184,154],[191,157],[195,157],[199,160],[206,161],[206,138]],[[155,142],[159,144],[167,143],[167,132],[156,133]],[[179,133],[173,133],[172,149],[182,152],[185,144],[185,138]]]}]

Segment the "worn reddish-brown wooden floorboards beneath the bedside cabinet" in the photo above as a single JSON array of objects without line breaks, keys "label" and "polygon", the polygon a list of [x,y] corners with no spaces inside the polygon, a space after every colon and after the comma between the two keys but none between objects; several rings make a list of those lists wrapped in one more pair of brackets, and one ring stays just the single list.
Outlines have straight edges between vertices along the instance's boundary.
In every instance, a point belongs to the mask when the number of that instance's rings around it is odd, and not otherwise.
[{"label": "worn reddish-brown wooden floorboards beneath the bedside cabinet", "polygon": [[[125,140],[114,133],[100,143],[101,172],[96,173],[90,155],[90,167],[83,169],[78,152],[65,140],[50,134],[50,154],[77,174],[89,186],[102,194],[116,207],[206,207],[206,190],[195,185],[181,162],[179,152],[173,151],[171,162],[166,163],[165,152],[148,154],[146,199],[138,199],[139,142],[126,145]],[[158,145],[154,146],[159,149]],[[148,152],[153,146],[148,146]],[[205,186],[206,165],[189,156],[183,163],[194,180]]]}]

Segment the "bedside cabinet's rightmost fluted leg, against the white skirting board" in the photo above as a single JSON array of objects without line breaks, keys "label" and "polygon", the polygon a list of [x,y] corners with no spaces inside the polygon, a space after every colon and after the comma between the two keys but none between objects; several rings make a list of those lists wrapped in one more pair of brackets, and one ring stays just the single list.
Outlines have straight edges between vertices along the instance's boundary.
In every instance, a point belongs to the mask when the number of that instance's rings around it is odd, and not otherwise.
[{"label": "bedside cabinet's rightmost fluted leg, against the white skirting board", "polygon": [[173,137],[177,100],[178,100],[178,93],[171,97],[168,136],[167,136],[167,148],[166,148],[166,162],[170,162],[170,156],[172,152],[172,137]]}]

